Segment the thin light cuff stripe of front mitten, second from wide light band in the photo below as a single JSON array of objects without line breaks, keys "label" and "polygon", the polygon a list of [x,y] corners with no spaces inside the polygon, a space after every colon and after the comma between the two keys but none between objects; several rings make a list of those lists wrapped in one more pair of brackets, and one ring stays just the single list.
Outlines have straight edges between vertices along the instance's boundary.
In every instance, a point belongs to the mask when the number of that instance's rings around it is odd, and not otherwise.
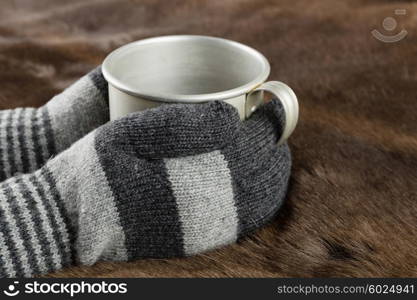
[{"label": "thin light cuff stripe of front mitten, second from wide light band", "polygon": [[[27,177],[27,176],[24,176]],[[41,245],[39,243],[38,235],[34,229],[35,223],[33,223],[31,215],[34,214],[34,211],[29,211],[27,207],[27,199],[22,195],[19,189],[19,185],[15,184],[11,186],[13,193],[16,195],[18,199],[16,199],[16,205],[19,208],[20,216],[22,218],[22,222],[25,223],[27,231],[30,236],[30,243],[32,245],[33,250],[35,251],[35,258],[37,260],[37,266],[41,272],[47,271],[47,267],[45,265],[45,259],[42,254]],[[21,200],[21,201],[19,201]]]}]

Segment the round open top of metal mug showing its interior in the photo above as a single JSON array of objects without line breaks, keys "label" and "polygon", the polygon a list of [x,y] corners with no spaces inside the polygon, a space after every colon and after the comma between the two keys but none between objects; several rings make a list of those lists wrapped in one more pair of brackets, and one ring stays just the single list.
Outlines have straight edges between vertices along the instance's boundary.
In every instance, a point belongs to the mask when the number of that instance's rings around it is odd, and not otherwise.
[{"label": "round open top of metal mug showing its interior", "polygon": [[269,75],[269,63],[243,44],[205,36],[166,36],[125,45],[103,63],[110,84],[161,101],[221,100]]}]

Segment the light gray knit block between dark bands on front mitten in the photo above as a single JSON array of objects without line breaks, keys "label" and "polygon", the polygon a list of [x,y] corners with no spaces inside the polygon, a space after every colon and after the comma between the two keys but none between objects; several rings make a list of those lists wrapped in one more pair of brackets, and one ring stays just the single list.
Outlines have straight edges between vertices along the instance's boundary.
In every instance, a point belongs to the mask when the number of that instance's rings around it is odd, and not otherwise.
[{"label": "light gray knit block between dark bands on front mitten", "polygon": [[232,243],[238,217],[230,172],[219,151],[165,160],[187,255]]}]

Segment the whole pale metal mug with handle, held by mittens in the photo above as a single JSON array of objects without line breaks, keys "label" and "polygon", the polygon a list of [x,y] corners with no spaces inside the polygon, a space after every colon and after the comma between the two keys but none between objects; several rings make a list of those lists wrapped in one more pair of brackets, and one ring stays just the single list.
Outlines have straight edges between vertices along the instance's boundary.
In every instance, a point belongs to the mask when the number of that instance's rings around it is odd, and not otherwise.
[{"label": "whole pale metal mug with handle, held by mittens", "polygon": [[265,82],[268,60],[238,42],[209,36],[172,35],[144,39],[110,53],[102,71],[109,83],[110,119],[162,103],[222,100],[243,120],[263,103],[263,92],[278,98],[285,111],[279,144],[298,121],[298,101],[290,87]]}]

